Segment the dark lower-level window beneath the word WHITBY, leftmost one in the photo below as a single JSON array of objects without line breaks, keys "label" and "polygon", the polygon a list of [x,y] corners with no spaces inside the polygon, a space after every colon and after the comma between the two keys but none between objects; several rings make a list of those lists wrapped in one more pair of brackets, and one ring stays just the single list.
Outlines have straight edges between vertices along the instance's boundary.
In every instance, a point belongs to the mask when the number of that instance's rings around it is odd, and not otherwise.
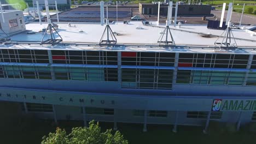
[{"label": "dark lower-level window beneath the word WHITBY, leftmost one", "polygon": [[26,103],[29,112],[53,112],[53,105]]}]

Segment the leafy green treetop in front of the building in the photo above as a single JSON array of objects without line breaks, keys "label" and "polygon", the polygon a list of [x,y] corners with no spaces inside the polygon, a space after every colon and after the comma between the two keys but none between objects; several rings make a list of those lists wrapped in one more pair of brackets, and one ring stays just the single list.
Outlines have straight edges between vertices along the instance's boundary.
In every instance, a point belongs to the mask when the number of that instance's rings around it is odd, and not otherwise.
[{"label": "leafy green treetop in front of the building", "polygon": [[108,129],[102,133],[100,125],[91,121],[88,128],[72,128],[68,135],[65,129],[57,128],[55,133],[43,136],[41,144],[128,144],[128,141],[119,131],[113,134]]}]

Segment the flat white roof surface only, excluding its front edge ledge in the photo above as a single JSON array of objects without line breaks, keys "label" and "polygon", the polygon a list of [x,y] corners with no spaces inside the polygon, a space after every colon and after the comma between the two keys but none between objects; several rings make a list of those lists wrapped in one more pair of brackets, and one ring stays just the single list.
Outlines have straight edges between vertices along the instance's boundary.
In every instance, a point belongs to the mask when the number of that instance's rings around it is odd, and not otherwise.
[{"label": "flat white roof surface only, excluding its front edge ledge", "polygon": [[[153,23],[154,24],[154,23]],[[47,27],[47,23],[39,25],[39,23],[28,23],[27,30],[39,32],[41,29]],[[101,26],[99,23],[71,23],[72,27],[68,27],[68,23],[59,23],[57,30],[63,41],[72,43],[99,43],[102,33],[106,25]],[[152,27],[143,26],[141,21],[132,21],[130,24],[110,24],[112,31],[118,33],[115,35],[118,44],[157,44],[160,33],[164,31],[165,26]],[[143,29],[136,29],[142,27]],[[170,26],[170,28],[174,28]],[[83,32],[79,32],[82,30]],[[247,30],[248,31],[248,30]],[[175,30],[171,29],[176,45],[206,45],[213,46],[217,37],[203,38],[203,34],[221,35],[223,30],[208,29],[206,25],[182,25]],[[235,38],[242,38],[247,40],[236,40],[238,46],[256,46],[256,35],[252,36],[246,30],[233,29]],[[11,37],[12,41],[40,41],[43,33],[27,34],[21,33]],[[170,38],[169,38],[170,39]]]}]

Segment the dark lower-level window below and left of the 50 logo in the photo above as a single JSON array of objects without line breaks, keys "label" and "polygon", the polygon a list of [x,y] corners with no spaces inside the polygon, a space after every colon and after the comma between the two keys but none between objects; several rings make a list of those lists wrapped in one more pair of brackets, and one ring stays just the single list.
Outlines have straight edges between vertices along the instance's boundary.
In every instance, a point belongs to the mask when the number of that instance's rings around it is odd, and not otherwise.
[{"label": "dark lower-level window below and left of the 50 logo", "polygon": [[[187,112],[187,118],[203,118],[206,119],[208,116],[207,111],[188,111]],[[222,118],[221,111],[212,111],[210,115],[210,119],[220,119]]]}]

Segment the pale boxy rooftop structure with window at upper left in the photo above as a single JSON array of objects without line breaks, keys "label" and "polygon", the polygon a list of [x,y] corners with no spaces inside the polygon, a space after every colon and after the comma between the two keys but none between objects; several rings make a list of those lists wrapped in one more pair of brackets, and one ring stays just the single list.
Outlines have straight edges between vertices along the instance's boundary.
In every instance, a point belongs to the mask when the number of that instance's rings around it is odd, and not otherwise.
[{"label": "pale boxy rooftop structure with window at upper left", "polygon": [[3,10],[3,15],[0,15],[0,28],[0,34],[4,36],[6,36],[5,34],[13,34],[16,32],[25,31],[26,26],[22,11]]}]

